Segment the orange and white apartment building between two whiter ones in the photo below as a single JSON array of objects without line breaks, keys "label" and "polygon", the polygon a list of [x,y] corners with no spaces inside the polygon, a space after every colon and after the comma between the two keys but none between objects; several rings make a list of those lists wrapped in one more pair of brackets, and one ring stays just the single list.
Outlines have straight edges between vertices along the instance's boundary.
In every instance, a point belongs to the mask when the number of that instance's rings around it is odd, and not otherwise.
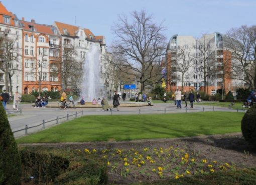
[{"label": "orange and white apartment building between two whiter ones", "polygon": [[61,36],[57,28],[20,21],[23,33],[23,93],[61,90]]}]

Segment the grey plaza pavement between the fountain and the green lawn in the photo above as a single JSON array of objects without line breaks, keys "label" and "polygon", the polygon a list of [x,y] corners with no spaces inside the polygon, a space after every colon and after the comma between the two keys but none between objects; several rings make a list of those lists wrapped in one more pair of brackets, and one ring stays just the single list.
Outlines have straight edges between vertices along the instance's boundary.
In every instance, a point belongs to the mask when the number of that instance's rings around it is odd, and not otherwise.
[{"label": "grey plaza pavement between the fountain and the green lawn", "polygon": [[[109,102],[111,104],[111,102]],[[122,102],[120,101],[120,104]],[[68,108],[66,110],[59,108],[34,108],[31,104],[21,104],[22,114],[17,113],[16,116],[9,117],[9,122],[12,131],[17,131],[24,129],[26,125],[28,127],[39,125],[45,120],[54,120],[58,116],[64,117],[67,114],[75,114],[75,112],[81,112],[83,110],[83,115],[123,115],[123,114],[163,114],[163,113],[185,113],[185,112],[203,112],[213,111],[213,106],[207,105],[194,105],[194,108],[184,108],[184,104],[181,109],[177,109],[173,101],[168,103],[155,103],[154,106],[144,106],[144,107],[121,107],[119,112],[114,108],[112,112],[102,111],[101,108]],[[12,111],[12,105],[7,105],[7,109]],[[7,111],[8,111],[7,110]],[[214,107],[214,111],[236,111],[228,109],[227,107]],[[77,117],[81,116],[81,113],[77,114]],[[70,116],[69,120],[73,119],[75,116]],[[58,121],[58,123],[65,122],[67,119],[63,118]],[[45,124],[45,128],[56,125],[56,121],[52,121]],[[28,129],[28,133],[33,133],[42,130],[42,125],[34,128]],[[15,137],[21,137],[25,135],[25,130],[15,132]]]}]

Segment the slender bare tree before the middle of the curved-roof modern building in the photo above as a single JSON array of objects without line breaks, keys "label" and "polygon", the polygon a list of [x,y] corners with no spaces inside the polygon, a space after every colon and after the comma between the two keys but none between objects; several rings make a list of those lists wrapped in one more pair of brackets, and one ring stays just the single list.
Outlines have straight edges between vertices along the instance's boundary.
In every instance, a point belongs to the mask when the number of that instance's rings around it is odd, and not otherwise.
[{"label": "slender bare tree before the middle of the curved-roof modern building", "polygon": [[197,74],[203,74],[204,79],[204,96],[206,96],[206,87],[208,86],[208,79],[212,79],[215,75],[213,68],[215,68],[215,46],[211,40],[202,36],[202,39],[197,40]]}]

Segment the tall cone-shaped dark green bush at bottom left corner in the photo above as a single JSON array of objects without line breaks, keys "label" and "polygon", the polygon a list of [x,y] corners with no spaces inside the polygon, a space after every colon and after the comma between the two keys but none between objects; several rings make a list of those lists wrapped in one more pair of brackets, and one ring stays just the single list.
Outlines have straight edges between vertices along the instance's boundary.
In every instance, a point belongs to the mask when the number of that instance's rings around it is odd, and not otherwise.
[{"label": "tall cone-shaped dark green bush at bottom left corner", "polygon": [[13,132],[0,101],[0,184],[20,185],[21,159]]}]

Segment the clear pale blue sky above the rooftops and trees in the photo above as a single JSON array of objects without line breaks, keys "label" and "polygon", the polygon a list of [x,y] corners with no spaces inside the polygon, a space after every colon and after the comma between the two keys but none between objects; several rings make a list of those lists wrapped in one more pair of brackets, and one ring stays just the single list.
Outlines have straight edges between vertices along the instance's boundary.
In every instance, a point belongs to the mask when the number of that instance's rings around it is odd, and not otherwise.
[{"label": "clear pale blue sky above the rooftops and trees", "polygon": [[25,21],[46,25],[58,21],[90,29],[105,36],[107,45],[114,39],[111,27],[118,24],[118,15],[142,9],[153,15],[155,23],[163,22],[167,42],[175,34],[200,37],[256,24],[255,0],[2,0],[2,4]]}]

